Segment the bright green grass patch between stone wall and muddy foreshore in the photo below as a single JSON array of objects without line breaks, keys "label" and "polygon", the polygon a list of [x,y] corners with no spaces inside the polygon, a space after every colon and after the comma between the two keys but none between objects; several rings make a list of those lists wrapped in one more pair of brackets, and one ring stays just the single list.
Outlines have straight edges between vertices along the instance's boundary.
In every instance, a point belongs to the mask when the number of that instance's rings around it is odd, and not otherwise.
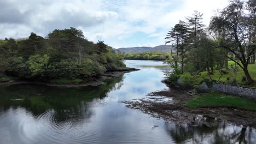
[{"label": "bright green grass patch between stone wall and muddy foreshore", "polygon": [[232,107],[256,111],[255,101],[220,93],[197,94],[185,106],[194,109],[197,107]]}]

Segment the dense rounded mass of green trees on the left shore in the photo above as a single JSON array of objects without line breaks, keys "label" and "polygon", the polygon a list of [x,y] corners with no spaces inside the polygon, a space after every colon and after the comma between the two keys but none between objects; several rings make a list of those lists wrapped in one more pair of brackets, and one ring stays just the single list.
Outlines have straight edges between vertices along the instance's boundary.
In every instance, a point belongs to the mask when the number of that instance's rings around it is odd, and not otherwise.
[{"label": "dense rounded mass of green trees on the left shore", "polygon": [[77,79],[125,68],[112,47],[85,38],[79,29],[55,29],[45,38],[0,41],[0,75],[20,79]]}]

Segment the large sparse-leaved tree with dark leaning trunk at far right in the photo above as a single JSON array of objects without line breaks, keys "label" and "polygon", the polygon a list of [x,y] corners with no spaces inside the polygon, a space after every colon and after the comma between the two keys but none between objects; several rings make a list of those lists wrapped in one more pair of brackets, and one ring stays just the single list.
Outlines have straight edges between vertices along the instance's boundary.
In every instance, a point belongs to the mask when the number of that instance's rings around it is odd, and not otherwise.
[{"label": "large sparse-leaved tree with dark leaning trunk at far right", "polygon": [[[249,26],[246,24],[244,3],[240,0],[231,1],[228,7],[220,11],[219,16],[214,16],[210,22],[210,29],[221,33],[222,41],[217,47],[223,47],[231,55],[227,55],[241,67],[246,75],[247,84],[254,82],[248,71],[248,63],[255,53],[255,46],[248,46]],[[236,59],[238,59],[237,62]]]}]

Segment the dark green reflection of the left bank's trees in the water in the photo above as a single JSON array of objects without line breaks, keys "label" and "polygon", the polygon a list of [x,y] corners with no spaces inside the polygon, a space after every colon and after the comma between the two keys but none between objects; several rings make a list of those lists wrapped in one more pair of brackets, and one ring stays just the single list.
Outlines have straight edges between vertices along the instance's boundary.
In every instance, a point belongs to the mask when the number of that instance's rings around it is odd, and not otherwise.
[{"label": "dark green reflection of the left bank's trees in the water", "polygon": [[[100,103],[107,93],[119,89],[123,84],[123,75],[108,79],[105,85],[98,87],[63,88],[43,85],[13,85],[0,87],[0,111],[10,107],[25,107],[34,116],[53,109],[57,117],[63,119],[82,116],[91,107],[93,100]],[[13,101],[11,99],[24,99]],[[60,115],[60,116],[59,116]],[[72,116],[73,115],[73,116]],[[61,120],[61,119],[59,119]]]}]

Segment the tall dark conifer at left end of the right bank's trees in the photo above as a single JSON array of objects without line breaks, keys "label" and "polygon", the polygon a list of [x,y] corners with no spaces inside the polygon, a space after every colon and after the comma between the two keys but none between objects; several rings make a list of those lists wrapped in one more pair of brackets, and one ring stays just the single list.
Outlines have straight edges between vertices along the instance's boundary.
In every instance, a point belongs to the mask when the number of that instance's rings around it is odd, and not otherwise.
[{"label": "tall dark conifer at left end of the right bank's trees", "polygon": [[[179,21],[171,31],[166,35],[165,39],[171,39],[166,41],[167,43],[171,43],[171,41],[175,41],[176,45],[176,57],[173,57],[174,63],[176,67],[178,67],[178,56],[181,56],[181,73],[184,73],[184,58],[185,58],[185,45],[188,38],[188,26],[185,25],[185,22]],[[172,56],[174,54],[172,53]]]}]

